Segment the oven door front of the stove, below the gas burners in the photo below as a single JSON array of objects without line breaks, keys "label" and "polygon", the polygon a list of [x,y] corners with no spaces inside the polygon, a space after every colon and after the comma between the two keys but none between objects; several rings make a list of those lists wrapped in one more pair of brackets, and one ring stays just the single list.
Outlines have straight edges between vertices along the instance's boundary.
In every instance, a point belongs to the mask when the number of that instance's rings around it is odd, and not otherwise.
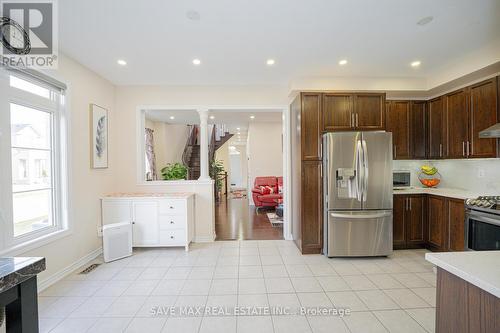
[{"label": "oven door front of the stove, below the gas burners", "polygon": [[465,247],[468,250],[500,250],[500,216],[468,211],[465,219],[465,238]]}]

